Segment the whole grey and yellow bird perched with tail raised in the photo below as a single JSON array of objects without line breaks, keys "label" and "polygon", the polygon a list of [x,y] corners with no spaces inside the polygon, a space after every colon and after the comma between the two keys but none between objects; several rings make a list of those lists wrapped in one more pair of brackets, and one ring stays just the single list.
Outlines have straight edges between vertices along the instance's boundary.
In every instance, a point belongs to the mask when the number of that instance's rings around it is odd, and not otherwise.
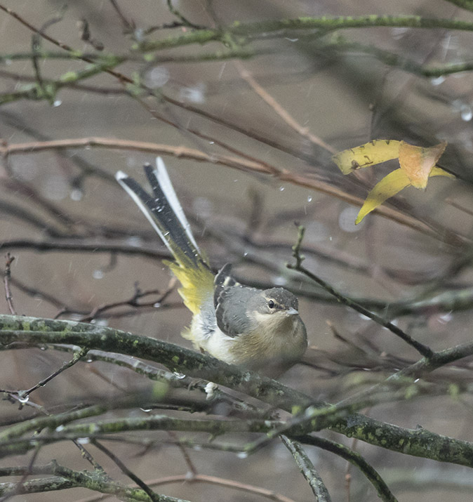
[{"label": "whole grey and yellow bird perched with tail raised", "polygon": [[214,276],[162,159],[156,159],[156,170],[145,165],[145,173],[152,194],[122,171],[116,180],[173,255],[173,262],[164,263],[182,284],[180,296],[193,314],[182,336],[217,359],[267,376],[278,376],[293,366],[307,348],[298,299],[284,288],[261,290],[239,284],[230,275],[229,264]]}]

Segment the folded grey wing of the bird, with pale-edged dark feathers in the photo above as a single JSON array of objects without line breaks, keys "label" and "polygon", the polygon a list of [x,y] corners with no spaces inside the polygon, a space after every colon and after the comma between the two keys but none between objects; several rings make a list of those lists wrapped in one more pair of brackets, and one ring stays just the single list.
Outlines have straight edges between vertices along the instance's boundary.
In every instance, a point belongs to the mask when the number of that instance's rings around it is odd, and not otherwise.
[{"label": "folded grey wing of the bird, with pale-edged dark feathers", "polygon": [[234,337],[251,329],[248,303],[260,291],[239,284],[229,275],[230,269],[231,266],[227,263],[215,276],[213,303],[220,331]]}]

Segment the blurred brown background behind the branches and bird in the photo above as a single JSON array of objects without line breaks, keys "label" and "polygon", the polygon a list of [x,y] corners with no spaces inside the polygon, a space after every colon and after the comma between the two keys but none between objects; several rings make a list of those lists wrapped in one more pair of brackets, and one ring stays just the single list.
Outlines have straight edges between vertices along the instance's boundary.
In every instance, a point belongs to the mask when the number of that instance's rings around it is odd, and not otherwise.
[{"label": "blurred brown background behind the branches and bird", "polygon": [[[60,15],[64,6],[62,1],[41,0],[0,4],[38,28]],[[293,32],[287,37],[267,37],[255,42],[269,53],[238,60],[238,64],[232,59],[185,60],[191,55],[225,50],[218,42],[162,51],[157,53],[162,61],[144,62],[139,53],[130,51],[132,35],[145,37],[149,27],[161,27],[176,18],[164,1],[121,1],[118,5],[128,26],[112,2],[81,1],[69,2],[62,19],[46,27],[45,32],[76,50],[95,53],[98,51],[81,39],[81,22],[86,20],[93,44],[102,44],[103,53],[133,54],[133,60],[116,70],[128,77],[138,75],[148,88],[156,91],[156,97],[141,95],[139,100],[133,99],[124,92],[124,84],[102,73],[81,81],[75,88],[60,89],[51,103],[18,99],[2,105],[2,140],[8,145],[91,137],[146,141],[189,147],[210,156],[239,157],[243,153],[287,169],[303,183],[286,183],[277,176],[244,172],[218,163],[164,157],[196,238],[213,266],[233,262],[242,282],[281,284],[299,295],[311,345],[307,362],[315,367],[295,366],[282,381],[317,399],[337,402],[368,383],[385,378],[397,369],[397,362],[408,364],[418,359],[415,351],[389,331],[333,300],[323,300],[328,298],[327,293],[287,270],[285,264],[292,259],[297,222],[306,227],[305,266],[347,296],[366,301],[368,308],[379,308],[381,303],[380,312],[387,316],[390,305],[401,300],[412,303],[471,284],[467,257],[473,214],[473,76],[471,72],[462,72],[427,78],[401,67],[406,60],[419,66],[471,60],[472,34],[404,27],[340,31],[350,43],[399,55],[397,67],[360,47],[353,46],[349,51],[324,48],[302,31],[300,36]],[[234,21],[363,14],[421,15],[473,22],[473,13],[440,0],[396,4],[362,1],[356,5],[343,1],[201,0],[173,5],[196,25],[208,27]],[[20,53],[31,54],[32,32],[3,11],[0,23],[0,92],[12,93],[21,90],[28,79],[35,79],[32,58],[18,57]],[[156,30],[149,38],[177,37],[186,30],[189,28]],[[41,46],[44,51],[60,53],[60,48],[47,41],[42,41]],[[86,62],[40,57],[38,65],[41,77],[47,81],[84,69]],[[291,114],[306,134],[296,131],[262,100],[242,78],[244,70]],[[161,99],[161,92],[182,106]],[[307,133],[328,147],[315,143]],[[388,204],[425,225],[429,232],[374,214],[355,227],[359,207],[344,197],[317,190],[318,184],[328,185],[342,194],[364,199],[367,190],[395,164],[344,177],[330,160],[331,150],[343,150],[375,138],[404,139],[425,146],[448,141],[441,166],[455,173],[458,180],[434,178],[426,192],[408,188]],[[112,179],[115,171],[121,169],[142,180],[142,164],[153,162],[154,157],[133,149],[79,147],[24,152],[4,159],[0,169],[0,239],[1,250],[15,256],[12,278],[20,285],[13,282],[11,287],[18,314],[54,317],[64,308],[67,312],[63,318],[81,319],[102,305],[133,297],[135,284],[141,291],[166,291],[170,275],[161,260],[133,251],[148,249],[164,256],[164,246]],[[36,243],[44,242],[51,244],[52,249],[36,249]],[[72,249],[60,249],[65,243]],[[114,251],[110,252],[112,245]],[[48,300],[44,293],[53,298]],[[153,298],[159,299],[159,293],[146,300]],[[1,311],[8,313],[3,295],[0,305]],[[119,315],[110,317],[113,313]],[[94,320],[189,346],[180,337],[180,330],[189,319],[189,312],[173,291],[159,308],[121,305]],[[472,337],[468,309],[448,312],[432,308],[399,317],[397,322],[434,350],[465,343]],[[336,338],[334,332],[354,347]],[[399,359],[393,361],[387,355]],[[0,358],[0,388],[4,389],[27,388],[68,360],[67,355],[53,350],[34,349],[0,352]],[[457,380],[467,384],[471,378],[467,364],[462,362],[457,373],[432,375],[432,381],[440,386]],[[53,410],[76,399],[105,399],[152,385],[116,366],[78,364],[32,398]],[[368,414],[408,428],[420,424],[440,434],[473,440],[468,392],[458,397],[440,394],[427,392],[413,402],[381,404]],[[32,410],[18,411],[18,406],[4,401],[0,412],[4,423],[11,423]],[[353,446],[347,438],[332,433],[326,433],[326,437]],[[112,447],[144,480],[186,472],[182,454],[175,447],[162,446],[145,454],[142,448],[133,449],[128,444],[114,443]],[[451,502],[472,500],[473,475],[468,468],[401,456],[368,444],[358,443],[356,449],[385,477],[399,500],[436,502],[446,496]],[[317,449],[308,451],[333,500],[347,500],[345,461]],[[312,500],[309,487],[279,442],[246,459],[218,451],[189,454],[201,473],[266,487],[295,501]],[[128,482],[100,452],[96,455],[112,477]],[[86,468],[72,445],[42,449],[39,461],[50,458],[71,468]],[[13,460],[20,465],[27,463],[25,458]],[[11,465],[12,459],[2,462]],[[375,491],[357,470],[351,468],[349,472],[351,500],[377,500]],[[193,501],[262,500],[254,494],[206,484],[170,484],[158,491]],[[15,500],[53,501],[65,496],[67,500],[84,500],[89,495],[85,489],[76,489],[67,494],[15,496]]]}]

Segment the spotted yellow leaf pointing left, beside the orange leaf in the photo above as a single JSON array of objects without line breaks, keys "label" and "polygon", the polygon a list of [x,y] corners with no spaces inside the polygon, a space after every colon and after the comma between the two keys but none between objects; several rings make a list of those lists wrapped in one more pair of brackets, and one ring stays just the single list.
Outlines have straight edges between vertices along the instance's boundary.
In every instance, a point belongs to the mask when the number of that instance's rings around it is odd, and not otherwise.
[{"label": "spotted yellow leaf pointing left, beside the orange leaf", "polygon": [[399,157],[401,141],[372,140],[356,148],[349,148],[333,155],[332,160],[343,174],[361,167],[374,166]]}]

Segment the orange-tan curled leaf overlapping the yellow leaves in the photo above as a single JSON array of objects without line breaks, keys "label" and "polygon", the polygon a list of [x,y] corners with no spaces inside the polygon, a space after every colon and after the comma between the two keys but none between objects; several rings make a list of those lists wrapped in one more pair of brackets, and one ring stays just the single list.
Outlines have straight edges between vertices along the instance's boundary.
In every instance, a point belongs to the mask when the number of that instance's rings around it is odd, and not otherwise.
[{"label": "orange-tan curled leaf overlapping the yellow leaves", "polygon": [[[415,188],[425,189],[430,172],[444,153],[447,143],[443,141],[439,145],[429,148],[415,147],[401,141],[399,147],[399,165],[406,173],[411,185]],[[444,171],[445,172],[445,171]],[[446,176],[437,174],[435,176]]]}]

